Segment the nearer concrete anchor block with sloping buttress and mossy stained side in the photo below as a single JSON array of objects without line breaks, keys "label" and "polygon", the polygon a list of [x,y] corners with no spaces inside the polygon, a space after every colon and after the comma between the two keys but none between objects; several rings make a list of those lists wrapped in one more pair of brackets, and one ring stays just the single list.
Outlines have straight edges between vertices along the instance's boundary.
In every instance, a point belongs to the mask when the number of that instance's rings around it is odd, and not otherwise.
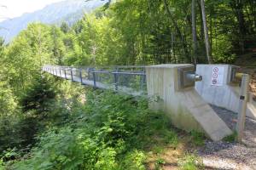
[{"label": "nearer concrete anchor block with sloping buttress and mossy stained side", "polygon": [[194,65],[152,65],[146,67],[149,107],[164,111],[172,123],[186,131],[196,130],[212,140],[220,140],[232,131],[195,91],[180,87],[180,69]]}]

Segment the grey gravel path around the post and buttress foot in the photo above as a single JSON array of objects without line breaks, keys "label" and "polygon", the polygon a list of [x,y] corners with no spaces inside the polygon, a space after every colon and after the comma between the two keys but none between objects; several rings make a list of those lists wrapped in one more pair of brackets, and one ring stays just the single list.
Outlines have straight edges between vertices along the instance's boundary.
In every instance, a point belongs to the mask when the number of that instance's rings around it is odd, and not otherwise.
[{"label": "grey gravel path around the post and buttress foot", "polygon": [[[216,106],[212,106],[212,109],[231,129],[236,128],[236,113]],[[207,141],[206,145],[199,150],[199,156],[201,156],[206,169],[256,170],[256,121],[253,119],[246,119],[243,143]]]}]

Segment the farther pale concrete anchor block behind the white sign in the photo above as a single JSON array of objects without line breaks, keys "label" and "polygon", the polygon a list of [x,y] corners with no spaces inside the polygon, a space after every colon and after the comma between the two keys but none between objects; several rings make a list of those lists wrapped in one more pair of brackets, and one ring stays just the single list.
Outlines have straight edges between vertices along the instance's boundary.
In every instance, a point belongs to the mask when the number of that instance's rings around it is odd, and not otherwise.
[{"label": "farther pale concrete anchor block behind the white sign", "polygon": [[[223,82],[219,86],[212,85],[212,70],[214,67],[223,67]],[[202,82],[195,83],[195,89],[201,97],[212,105],[223,107],[227,110],[239,110],[239,84],[230,83],[233,65],[196,65],[196,73],[203,77]],[[247,102],[247,116],[256,119],[256,105],[249,97]]]}]

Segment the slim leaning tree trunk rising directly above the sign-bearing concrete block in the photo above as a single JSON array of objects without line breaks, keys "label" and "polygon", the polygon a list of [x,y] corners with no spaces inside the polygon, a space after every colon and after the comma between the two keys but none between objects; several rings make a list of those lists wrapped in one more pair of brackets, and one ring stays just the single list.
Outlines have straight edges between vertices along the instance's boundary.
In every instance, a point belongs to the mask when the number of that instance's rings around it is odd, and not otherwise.
[{"label": "slim leaning tree trunk rising directly above the sign-bearing concrete block", "polygon": [[201,0],[201,14],[203,19],[203,25],[204,25],[204,32],[205,32],[205,43],[206,43],[206,49],[207,49],[207,60],[209,64],[212,64],[212,56],[211,56],[211,48],[210,48],[210,42],[209,42],[209,36],[208,36],[208,28],[207,28],[207,15],[206,15],[206,8],[205,8],[205,1]]}]

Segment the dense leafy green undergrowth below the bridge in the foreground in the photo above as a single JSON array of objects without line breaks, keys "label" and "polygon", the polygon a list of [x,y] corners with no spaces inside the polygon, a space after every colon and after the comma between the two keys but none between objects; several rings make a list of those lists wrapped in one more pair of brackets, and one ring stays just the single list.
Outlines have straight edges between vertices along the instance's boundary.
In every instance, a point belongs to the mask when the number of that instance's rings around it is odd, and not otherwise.
[{"label": "dense leafy green undergrowth below the bridge in the foreground", "polygon": [[[177,147],[177,130],[165,114],[148,111],[146,99],[93,90],[85,96],[84,103],[77,97],[73,105],[57,99],[57,115],[63,112],[66,118],[50,122],[25,156],[19,150],[3,154],[0,169],[143,170],[148,151],[165,144]],[[3,161],[10,154],[15,159]],[[164,163],[156,161],[158,167]]]}]

